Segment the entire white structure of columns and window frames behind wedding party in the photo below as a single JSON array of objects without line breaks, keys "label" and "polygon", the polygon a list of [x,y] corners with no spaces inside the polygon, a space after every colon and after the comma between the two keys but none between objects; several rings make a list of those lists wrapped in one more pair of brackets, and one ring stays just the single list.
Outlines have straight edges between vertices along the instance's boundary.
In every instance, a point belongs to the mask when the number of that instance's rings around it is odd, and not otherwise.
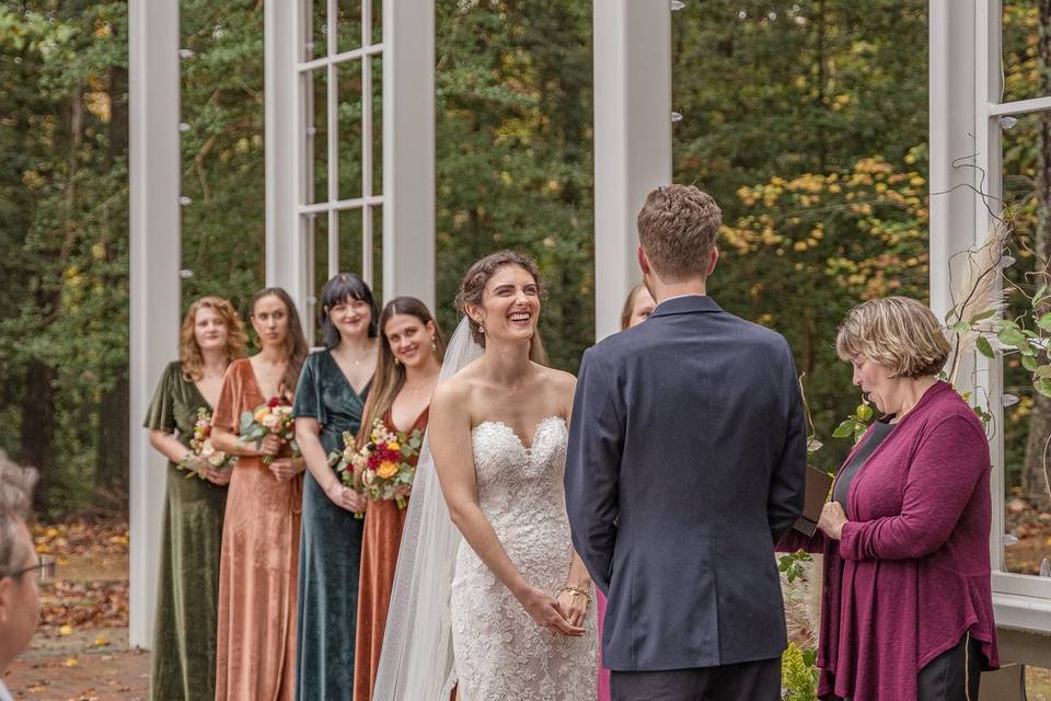
[{"label": "entire white structure of columns and window frames behind wedding party", "polygon": [[[596,0],[594,223],[596,333],[614,327],[624,294],[637,279],[635,212],[645,194],[670,182],[671,21],[669,0]],[[266,0],[266,281],[289,290],[313,315],[317,231],[327,233],[328,274],[340,269],[339,228],[359,221],[362,275],[383,297],[435,302],[435,21],[432,0],[383,0],[382,41],[372,2],[361,5],[361,37],[348,48],[330,31],[313,34],[317,13],[335,25],[336,0]],[[991,226],[979,197],[1000,193],[1001,117],[1051,110],[1051,96],[1002,103],[998,0],[931,0],[931,299],[951,307],[948,263],[981,242]],[[379,18],[371,20],[378,21]],[[178,0],[131,0],[131,623],[130,641],[151,639],[158,572],[162,458],[149,449],[138,418],[176,348],[180,322]],[[374,84],[373,68],[382,69]],[[360,70],[360,192],[339,192],[338,81]],[[314,90],[323,78],[325,91]],[[373,180],[374,92],[382,95],[382,183]],[[321,96],[320,96],[321,95]],[[315,100],[324,100],[317,110]],[[314,122],[315,114],[323,114]],[[689,118],[689,115],[686,115]],[[324,148],[315,137],[324,135]],[[320,138],[320,137],[319,137]],[[315,153],[326,187],[315,187]],[[323,169],[324,170],[324,169]],[[382,221],[382,261],[372,231]],[[1002,361],[972,359],[983,397],[1001,418]],[[997,621],[1051,632],[1051,578],[1009,574],[1003,563],[1003,438],[993,438],[994,524],[991,547]]]}]

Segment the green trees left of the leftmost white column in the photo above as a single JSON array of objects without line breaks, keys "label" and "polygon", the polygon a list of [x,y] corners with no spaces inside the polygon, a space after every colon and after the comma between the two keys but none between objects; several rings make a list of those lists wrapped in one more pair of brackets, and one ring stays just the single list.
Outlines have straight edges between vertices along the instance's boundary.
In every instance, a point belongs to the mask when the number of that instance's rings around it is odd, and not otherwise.
[{"label": "green trees left of the leftmost white column", "polygon": [[126,485],[125,37],[119,2],[0,7],[0,436],[74,507]]}]

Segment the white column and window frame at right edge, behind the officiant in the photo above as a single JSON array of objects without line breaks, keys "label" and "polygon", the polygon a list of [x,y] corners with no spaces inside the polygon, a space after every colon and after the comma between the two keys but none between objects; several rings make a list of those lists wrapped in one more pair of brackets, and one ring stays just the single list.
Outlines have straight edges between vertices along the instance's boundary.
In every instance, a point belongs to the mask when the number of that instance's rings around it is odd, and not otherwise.
[{"label": "white column and window frame at right edge, behind the officiant", "polygon": [[[1051,96],[1001,102],[1003,9],[1000,0],[931,0],[931,300],[944,314],[952,255],[980,245],[995,225],[988,205],[1003,192],[1001,118],[1051,111]],[[979,196],[981,189],[985,196]],[[995,209],[995,207],[994,207]],[[1003,358],[966,358],[961,384],[1003,426]],[[977,380],[974,380],[977,378]],[[971,389],[961,387],[960,389]],[[1004,558],[1004,434],[990,438],[993,470],[990,553],[1000,627],[1051,632],[1051,578],[1007,572]]]}]

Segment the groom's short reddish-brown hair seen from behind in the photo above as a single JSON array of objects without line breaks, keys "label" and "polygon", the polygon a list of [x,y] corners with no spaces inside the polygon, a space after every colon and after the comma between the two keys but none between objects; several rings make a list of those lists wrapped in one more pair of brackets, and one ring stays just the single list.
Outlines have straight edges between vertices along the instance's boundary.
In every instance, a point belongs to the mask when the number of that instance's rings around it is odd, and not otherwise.
[{"label": "groom's short reddish-brown hair seen from behind", "polygon": [[654,269],[669,280],[705,275],[723,212],[693,185],[663,185],[638,212],[638,241]]}]

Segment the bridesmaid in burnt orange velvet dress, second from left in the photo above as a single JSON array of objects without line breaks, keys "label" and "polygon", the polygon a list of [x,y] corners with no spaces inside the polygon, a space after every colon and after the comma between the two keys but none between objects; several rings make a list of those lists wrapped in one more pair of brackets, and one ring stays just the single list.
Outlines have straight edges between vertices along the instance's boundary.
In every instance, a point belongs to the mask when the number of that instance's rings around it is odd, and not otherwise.
[{"label": "bridesmaid in burnt orange velvet dress, second from left", "polygon": [[242,412],[291,403],[308,346],[280,288],[252,299],[252,326],[262,350],[230,364],[211,422],[215,446],[239,456],[222,527],[216,700],[292,701],[303,460],[276,436],[256,446],[236,434]]}]

